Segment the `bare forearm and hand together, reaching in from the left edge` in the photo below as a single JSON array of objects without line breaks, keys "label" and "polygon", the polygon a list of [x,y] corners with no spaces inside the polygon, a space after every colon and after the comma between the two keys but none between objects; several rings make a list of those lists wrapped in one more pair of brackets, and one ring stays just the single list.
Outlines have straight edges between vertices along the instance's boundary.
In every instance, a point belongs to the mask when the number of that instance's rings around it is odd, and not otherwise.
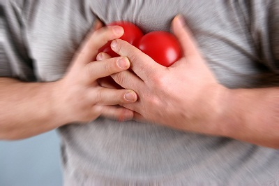
[{"label": "bare forearm and hand together, reaching in from the left edge", "polygon": [[[133,103],[133,90],[101,87],[98,79],[130,67],[126,57],[92,62],[107,41],[123,35],[119,26],[100,28],[86,37],[66,75],[52,83],[24,83],[0,78],[0,139],[28,138],[71,122],[90,122],[99,116],[130,120],[133,111],[119,104]],[[96,31],[95,31],[96,30]]]}]

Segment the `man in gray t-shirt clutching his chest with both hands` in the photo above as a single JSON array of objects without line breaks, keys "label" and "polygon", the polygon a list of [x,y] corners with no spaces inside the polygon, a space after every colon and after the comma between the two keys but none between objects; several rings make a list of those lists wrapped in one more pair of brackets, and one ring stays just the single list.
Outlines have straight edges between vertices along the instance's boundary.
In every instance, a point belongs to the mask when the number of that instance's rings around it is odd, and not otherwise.
[{"label": "man in gray t-shirt clutching his chest with both hands", "polygon": [[[278,180],[278,1],[1,6],[1,138],[59,127],[65,185]],[[127,20],[146,33],[169,31],[173,17],[183,57],[169,68],[117,39],[121,27],[84,38],[97,19]],[[121,57],[98,54],[110,40]],[[106,76],[125,90],[113,89]]]}]

